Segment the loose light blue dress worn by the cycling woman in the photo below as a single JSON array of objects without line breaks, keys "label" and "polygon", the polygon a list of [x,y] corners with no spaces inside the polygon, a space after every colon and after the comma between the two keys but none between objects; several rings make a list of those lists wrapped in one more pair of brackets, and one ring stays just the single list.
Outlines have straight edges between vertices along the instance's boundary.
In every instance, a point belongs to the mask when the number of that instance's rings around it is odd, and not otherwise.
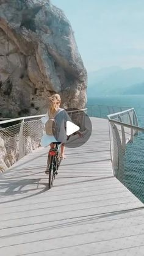
[{"label": "loose light blue dress worn by the cycling woman", "polygon": [[[41,122],[43,123],[44,126],[45,126],[45,123],[48,121],[48,119],[49,119],[49,117],[48,117],[48,112],[47,112],[45,117],[41,118]],[[56,119],[57,125],[58,125],[59,136],[56,140],[56,138],[54,136],[50,136],[50,135],[47,135],[46,133],[44,133],[41,138],[41,146],[42,147],[46,147],[49,144],[51,144],[52,142],[65,143],[67,141],[67,134],[65,131],[65,126],[66,126],[67,121],[71,122],[69,115],[67,114],[65,109],[60,108],[57,111],[55,119]]]}]

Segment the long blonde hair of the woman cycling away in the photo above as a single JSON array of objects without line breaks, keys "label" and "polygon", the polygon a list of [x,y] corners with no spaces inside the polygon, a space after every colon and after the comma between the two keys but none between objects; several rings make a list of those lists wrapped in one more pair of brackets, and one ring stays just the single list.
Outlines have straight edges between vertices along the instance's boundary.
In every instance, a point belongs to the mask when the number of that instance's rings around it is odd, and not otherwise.
[{"label": "long blonde hair of the woman cycling away", "polygon": [[49,117],[54,117],[57,109],[59,109],[61,102],[60,95],[55,93],[51,97],[48,98],[48,115]]}]

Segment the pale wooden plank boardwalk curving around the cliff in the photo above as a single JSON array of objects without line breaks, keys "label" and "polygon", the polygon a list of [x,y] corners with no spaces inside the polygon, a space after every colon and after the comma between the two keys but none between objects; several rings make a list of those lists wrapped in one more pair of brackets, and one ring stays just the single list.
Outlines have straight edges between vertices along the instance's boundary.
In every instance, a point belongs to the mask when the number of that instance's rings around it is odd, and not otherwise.
[{"label": "pale wooden plank boardwalk curving around the cliff", "polygon": [[67,148],[52,189],[48,148],[1,175],[1,256],[144,255],[143,204],[113,177],[107,120],[92,123],[89,141]]}]

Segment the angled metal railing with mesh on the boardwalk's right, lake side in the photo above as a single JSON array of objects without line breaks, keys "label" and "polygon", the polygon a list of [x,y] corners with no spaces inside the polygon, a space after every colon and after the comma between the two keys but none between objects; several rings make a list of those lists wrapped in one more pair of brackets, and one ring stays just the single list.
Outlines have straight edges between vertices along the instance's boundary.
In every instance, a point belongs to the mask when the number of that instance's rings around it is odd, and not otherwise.
[{"label": "angled metal railing with mesh on the boardwalk's right, lake side", "polygon": [[113,137],[113,175],[144,202],[144,128],[139,126],[134,108],[107,117]]}]

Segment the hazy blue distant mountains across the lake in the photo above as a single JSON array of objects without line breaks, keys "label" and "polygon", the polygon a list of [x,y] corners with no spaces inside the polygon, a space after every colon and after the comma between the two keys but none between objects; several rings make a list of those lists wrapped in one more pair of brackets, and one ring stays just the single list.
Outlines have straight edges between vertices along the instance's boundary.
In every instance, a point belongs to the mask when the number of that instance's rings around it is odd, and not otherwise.
[{"label": "hazy blue distant mountains across the lake", "polygon": [[144,69],[110,67],[88,73],[88,97],[117,94],[144,94]]}]

